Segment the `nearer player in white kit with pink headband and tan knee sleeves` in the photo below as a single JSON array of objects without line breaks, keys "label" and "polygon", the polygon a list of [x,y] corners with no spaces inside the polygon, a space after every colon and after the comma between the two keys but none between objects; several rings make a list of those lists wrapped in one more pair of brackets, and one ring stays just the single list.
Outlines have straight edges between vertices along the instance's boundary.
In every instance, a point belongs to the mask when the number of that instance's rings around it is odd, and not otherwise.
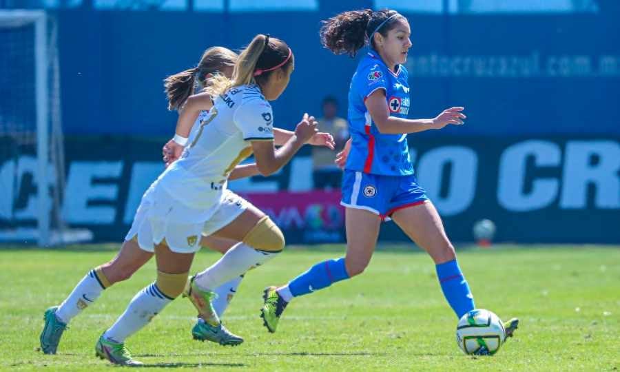
[{"label": "nearer player in white kit with pink headband and tan knee sleeves", "polygon": [[316,134],[316,121],[304,114],[295,134],[273,147],[273,113],[268,101],[282,94],[293,72],[287,44],[257,35],[240,55],[232,80],[216,75],[207,92],[217,97],[183,155],[149,187],[126,240],[155,253],[158,275],[136,294],[127,310],[96,344],[96,353],[114,364],[139,365],[125,348],[125,339],[144,327],[185,291],[200,318],[213,327],[220,320],[211,306],[212,289],[250,267],[262,265],[284,248],[284,237],[268,216],[246,209],[227,226],[240,241],[208,272],[187,286],[187,275],[205,223],[225,203],[227,179],[244,158],[254,153],[262,175],[277,172]]}]

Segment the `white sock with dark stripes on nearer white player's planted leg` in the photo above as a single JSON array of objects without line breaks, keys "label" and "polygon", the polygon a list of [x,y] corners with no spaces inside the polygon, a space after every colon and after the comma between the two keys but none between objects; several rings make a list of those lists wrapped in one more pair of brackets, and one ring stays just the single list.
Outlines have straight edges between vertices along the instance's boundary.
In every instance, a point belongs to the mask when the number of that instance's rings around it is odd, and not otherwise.
[{"label": "white sock with dark stripes on nearer white player's planted leg", "polygon": [[172,300],[155,283],[148,285],[132,298],[127,310],[103,333],[103,337],[114,342],[125,342],[126,338],[140,331],[170,302]]}]

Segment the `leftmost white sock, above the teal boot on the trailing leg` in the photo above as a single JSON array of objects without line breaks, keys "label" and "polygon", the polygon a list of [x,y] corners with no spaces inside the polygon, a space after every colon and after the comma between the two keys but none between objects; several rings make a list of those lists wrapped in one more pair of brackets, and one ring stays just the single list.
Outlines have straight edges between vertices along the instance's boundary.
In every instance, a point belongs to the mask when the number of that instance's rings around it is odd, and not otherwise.
[{"label": "leftmost white sock, above the teal boot on the trailing leg", "polygon": [[68,324],[72,318],[81,313],[83,309],[86,309],[86,307],[95,302],[95,300],[101,296],[101,291],[103,291],[103,289],[105,288],[103,288],[99,282],[95,269],[92,269],[80,280],[69,294],[69,297],[66,298],[56,310],[56,318]]}]

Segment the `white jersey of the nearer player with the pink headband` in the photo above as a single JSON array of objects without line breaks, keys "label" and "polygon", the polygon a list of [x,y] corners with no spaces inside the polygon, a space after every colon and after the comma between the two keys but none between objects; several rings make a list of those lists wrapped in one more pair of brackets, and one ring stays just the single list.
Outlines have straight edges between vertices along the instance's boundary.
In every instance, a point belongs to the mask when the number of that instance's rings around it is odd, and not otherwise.
[{"label": "white jersey of the nearer player with the pink headband", "polygon": [[273,141],[273,112],[257,85],[242,85],[218,96],[156,187],[192,209],[212,207],[230,172],[251,155],[251,141]]}]

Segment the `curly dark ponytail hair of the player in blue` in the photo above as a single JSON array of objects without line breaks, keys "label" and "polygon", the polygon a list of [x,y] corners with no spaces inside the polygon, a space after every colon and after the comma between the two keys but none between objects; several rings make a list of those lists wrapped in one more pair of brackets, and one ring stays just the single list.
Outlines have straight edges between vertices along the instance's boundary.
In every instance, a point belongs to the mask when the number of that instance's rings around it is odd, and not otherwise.
[{"label": "curly dark ponytail hair of the player in blue", "polygon": [[[373,48],[375,47],[374,40],[370,39],[373,32],[386,19],[396,14],[398,13],[395,10],[389,9],[376,12],[371,9],[342,12],[327,21],[322,21],[323,25],[319,32],[321,44],[333,54],[349,54],[353,58],[366,43],[370,42]],[[398,17],[393,17],[377,32],[386,37],[400,17],[402,17],[400,14]]]}]

